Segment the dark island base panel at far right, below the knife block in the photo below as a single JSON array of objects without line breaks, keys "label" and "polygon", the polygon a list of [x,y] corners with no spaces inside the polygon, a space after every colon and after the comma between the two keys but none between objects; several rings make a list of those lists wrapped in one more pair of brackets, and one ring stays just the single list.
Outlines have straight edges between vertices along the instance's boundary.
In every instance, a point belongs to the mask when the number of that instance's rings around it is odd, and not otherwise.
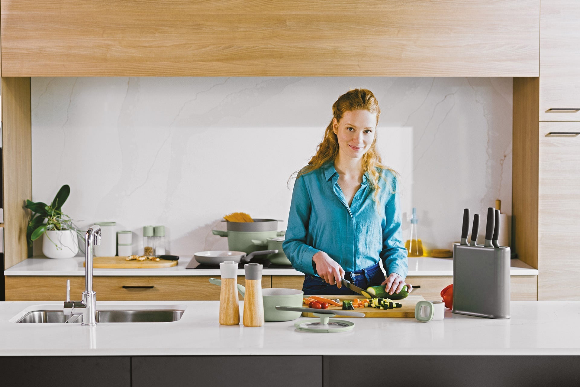
[{"label": "dark island base panel at far right, below the knife block", "polygon": [[[368,372],[340,371],[349,364]],[[322,368],[325,387],[580,386],[580,356],[324,356]]]}]

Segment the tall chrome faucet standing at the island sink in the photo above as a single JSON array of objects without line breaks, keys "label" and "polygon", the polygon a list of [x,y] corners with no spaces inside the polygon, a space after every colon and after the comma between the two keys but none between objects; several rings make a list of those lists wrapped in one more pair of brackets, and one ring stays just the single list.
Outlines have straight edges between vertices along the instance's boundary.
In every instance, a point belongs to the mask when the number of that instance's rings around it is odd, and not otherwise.
[{"label": "tall chrome faucet standing at the island sink", "polygon": [[64,302],[64,314],[73,316],[67,320],[74,320],[77,314],[82,314],[82,325],[96,325],[96,293],[93,292],[93,245],[101,244],[101,227],[94,225],[85,233],[85,291],[82,292],[82,301],[70,301],[70,281],[67,281],[67,301]]}]

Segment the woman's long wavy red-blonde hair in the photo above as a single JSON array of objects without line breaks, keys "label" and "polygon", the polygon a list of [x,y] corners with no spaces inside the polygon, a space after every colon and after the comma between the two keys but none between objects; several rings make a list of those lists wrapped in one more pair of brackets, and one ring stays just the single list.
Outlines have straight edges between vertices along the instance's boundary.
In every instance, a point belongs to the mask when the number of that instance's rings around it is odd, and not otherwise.
[{"label": "woman's long wavy red-blonde hair", "polygon": [[[340,119],[347,111],[354,110],[367,110],[370,113],[375,114],[376,124],[379,123],[379,102],[370,90],[352,89],[338,97],[336,102],[332,104],[332,115],[333,118],[336,118],[337,122],[340,122]],[[290,179],[292,179],[294,175],[296,175],[296,179],[298,179],[300,176],[305,175],[305,173],[314,171],[327,162],[336,159],[338,156],[339,145],[336,134],[332,130],[332,122],[333,120],[328,124],[326,131],[324,132],[324,138],[322,138],[322,142],[318,144],[316,154],[310,159],[308,165],[300,169],[300,171],[292,173]],[[398,173],[394,171],[394,169],[382,164],[379,151],[376,149],[376,131],[371,147],[364,155],[362,155],[362,169],[364,169],[365,172],[368,172],[369,185],[374,190],[373,200],[378,204],[380,190],[379,179],[381,178],[381,172],[388,170],[393,173],[395,179],[398,178]],[[393,186],[391,186],[391,191],[394,192],[394,182]]]}]

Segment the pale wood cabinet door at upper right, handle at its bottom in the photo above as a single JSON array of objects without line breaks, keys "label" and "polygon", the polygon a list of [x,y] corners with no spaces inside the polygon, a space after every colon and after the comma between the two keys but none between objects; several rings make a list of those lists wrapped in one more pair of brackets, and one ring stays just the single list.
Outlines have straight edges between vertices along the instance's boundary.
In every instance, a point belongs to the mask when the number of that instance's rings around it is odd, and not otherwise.
[{"label": "pale wood cabinet door at upper right, handle at its bottom", "polygon": [[580,2],[542,1],[540,26],[539,119],[580,121]]}]

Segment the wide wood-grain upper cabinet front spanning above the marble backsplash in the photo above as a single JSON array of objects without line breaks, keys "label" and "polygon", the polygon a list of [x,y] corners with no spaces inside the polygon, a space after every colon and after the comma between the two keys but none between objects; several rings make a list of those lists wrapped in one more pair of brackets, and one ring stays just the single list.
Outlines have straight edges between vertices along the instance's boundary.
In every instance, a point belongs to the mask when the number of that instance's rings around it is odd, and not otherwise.
[{"label": "wide wood-grain upper cabinet front spanning above the marble backsplash", "polygon": [[540,0],[2,0],[3,77],[537,77]]}]

